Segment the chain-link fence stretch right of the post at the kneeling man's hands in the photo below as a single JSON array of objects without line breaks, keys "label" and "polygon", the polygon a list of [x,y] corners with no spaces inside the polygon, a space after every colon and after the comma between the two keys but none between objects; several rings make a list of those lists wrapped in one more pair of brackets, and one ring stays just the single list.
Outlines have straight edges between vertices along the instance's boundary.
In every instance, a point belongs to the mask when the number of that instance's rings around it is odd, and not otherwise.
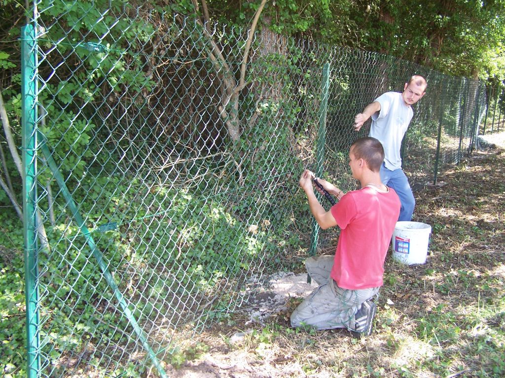
[{"label": "chain-link fence stretch right of the post at the kneeling man's hands", "polygon": [[[355,190],[347,166],[350,145],[368,135],[351,131],[356,113],[387,91],[401,92],[415,73],[428,81],[427,94],[413,106],[414,118],[401,148],[402,167],[414,191],[437,183],[437,174],[449,165],[458,164],[469,155],[476,143],[477,125],[486,114],[486,92],[482,82],[450,77],[426,67],[391,56],[364,52],[339,51],[329,59],[332,70],[328,118],[326,124],[324,177],[342,190]],[[320,132],[321,134],[321,132]],[[415,214],[414,219],[415,220]],[[311,254],[333,254],[338,228],[313,231]],[[319,248],[317,251],[316,249]]]}]

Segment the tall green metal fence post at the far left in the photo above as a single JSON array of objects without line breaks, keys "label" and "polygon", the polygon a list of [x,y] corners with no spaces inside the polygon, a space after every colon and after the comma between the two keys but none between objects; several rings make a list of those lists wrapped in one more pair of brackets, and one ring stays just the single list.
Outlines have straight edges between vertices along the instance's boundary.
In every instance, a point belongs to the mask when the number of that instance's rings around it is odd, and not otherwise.
[{"label": "tall green metal fence post at the far left", "polygon": [[27,376],[40,371],[39,294],[36,238],[36,41],[33,26],[21,29],[21,124],[23,144],[23,237],[25,259]]}]

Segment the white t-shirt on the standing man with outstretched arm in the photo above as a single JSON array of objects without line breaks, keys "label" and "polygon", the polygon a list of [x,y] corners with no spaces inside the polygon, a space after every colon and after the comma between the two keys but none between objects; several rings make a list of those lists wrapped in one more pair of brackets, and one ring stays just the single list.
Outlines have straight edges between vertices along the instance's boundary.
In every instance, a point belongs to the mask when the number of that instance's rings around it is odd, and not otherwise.
[{"label": "white t-shirt on the standing man with outstretched arm", "polygon": [[376,138],[384,147],[384,165],[389,170],[401,168],[401,140],[414,116],[411,106],[407,106],[401,93],[386,92],[375,100],[380,103],[380,111],[372,115],[369,136]]}]

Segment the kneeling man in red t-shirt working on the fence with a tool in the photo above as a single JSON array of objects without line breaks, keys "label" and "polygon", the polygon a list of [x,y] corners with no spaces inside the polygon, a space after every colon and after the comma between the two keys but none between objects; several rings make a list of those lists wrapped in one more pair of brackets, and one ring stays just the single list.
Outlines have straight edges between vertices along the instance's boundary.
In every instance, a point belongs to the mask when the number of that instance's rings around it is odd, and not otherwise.
[{"label": "kneeling man in red t-shirt working on the fence with a tool", "polygon": [[347,328],[356,337],[371,334],[377,305],[370,299],[382,286],[384,260],[400,212],[398,196],[380,180],[383,160],[384,149],[377,139],[366,137],[352,144],[349,166],[361,189],[343,194],[319,179],[339,200],[330,211],[314,194],[312,172],[302,173],[299,184],[319,226],[339,226],[341,232],[335,256],[307,260],[307,271],[320,286],[291,314],[293,327]]}]

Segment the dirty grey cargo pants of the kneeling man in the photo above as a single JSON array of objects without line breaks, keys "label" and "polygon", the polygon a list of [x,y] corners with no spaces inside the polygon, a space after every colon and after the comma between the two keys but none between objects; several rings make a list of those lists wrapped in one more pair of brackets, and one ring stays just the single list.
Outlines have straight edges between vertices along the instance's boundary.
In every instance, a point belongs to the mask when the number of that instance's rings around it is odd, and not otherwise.
[{"label": "dirty grey cargo pants of the kneeling man", "polygon": [[362,303],[379,292],[379,287],[361,290],[342,289],[330,277],[334,256],[307,259],[307,273],[319,287],[291,314],[291,326],[306,325],[317,330],[347,328],[354,330],[355,314]]}]

